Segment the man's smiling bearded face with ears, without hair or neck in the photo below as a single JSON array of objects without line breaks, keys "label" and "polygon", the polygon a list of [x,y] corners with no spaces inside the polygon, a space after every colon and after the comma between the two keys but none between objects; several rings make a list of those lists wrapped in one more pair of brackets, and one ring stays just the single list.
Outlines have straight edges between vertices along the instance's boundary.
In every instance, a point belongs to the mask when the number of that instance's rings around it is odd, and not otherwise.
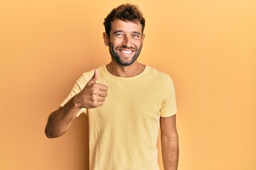
[{"label": "man's smiling bearded face with ears, without hair or neck", "polygon": [[122,66],[129,66],[137,60],[142,50],[142,25],[116,19],[111,26],[110,37],[103,34],[105,45],[109,46],[112,59]]}]

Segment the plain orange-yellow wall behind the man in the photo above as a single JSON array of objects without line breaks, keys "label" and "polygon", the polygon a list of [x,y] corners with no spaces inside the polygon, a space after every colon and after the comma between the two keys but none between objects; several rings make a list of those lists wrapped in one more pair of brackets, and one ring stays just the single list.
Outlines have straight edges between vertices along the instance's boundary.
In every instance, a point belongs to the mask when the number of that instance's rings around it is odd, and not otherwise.
[{"label": "plain orange-yellow wall behind the man", "polygon": [[[85,115],[57,139],[44,128],[80,74],[110,62],[102,22],[125,2],[0,1],[0,169],[87,169]],[[256,2],[129,2],[146,18],[139,62],[176,86],[179,169],[255,170]]]}]

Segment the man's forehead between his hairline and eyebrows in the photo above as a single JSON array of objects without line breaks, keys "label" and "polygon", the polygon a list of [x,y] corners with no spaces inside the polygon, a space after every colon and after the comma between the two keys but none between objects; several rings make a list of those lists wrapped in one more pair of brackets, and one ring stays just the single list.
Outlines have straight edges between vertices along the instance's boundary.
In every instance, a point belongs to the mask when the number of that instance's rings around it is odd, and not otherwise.
[{"label": "man's forehead between his hairline and eyebrows", "polygon": [[122,30],[123,32],[139,32],[142,33],[142,24],[139,22],[122,21],[115,19],[111,23],[110,33],[114,33],[116,30]]}]

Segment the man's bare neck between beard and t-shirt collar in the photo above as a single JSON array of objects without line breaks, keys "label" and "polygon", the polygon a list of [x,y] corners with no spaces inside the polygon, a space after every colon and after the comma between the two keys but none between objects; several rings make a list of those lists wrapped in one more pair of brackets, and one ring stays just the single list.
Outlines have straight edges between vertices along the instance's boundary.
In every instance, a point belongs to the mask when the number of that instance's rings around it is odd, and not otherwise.
[{"label": "man's bare neck between beard and t-shirt collar", "polygon": [[141,74],[145,67],[144,64],[140,64],[137,61],[129,66],[122,66],[112,61],[110,64],[107,64],[107,71],[116,77],[134,77]]}]

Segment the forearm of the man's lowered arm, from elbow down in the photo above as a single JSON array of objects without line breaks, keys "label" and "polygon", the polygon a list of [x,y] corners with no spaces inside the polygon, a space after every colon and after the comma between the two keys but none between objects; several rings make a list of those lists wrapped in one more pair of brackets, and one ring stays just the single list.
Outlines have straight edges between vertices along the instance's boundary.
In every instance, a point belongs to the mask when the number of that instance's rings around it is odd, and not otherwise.
[{"label": "forearm of the man's lowered arm, from elbow down", "polygon": [[178,169],[178,135],[161,137],[164,170]]}]

